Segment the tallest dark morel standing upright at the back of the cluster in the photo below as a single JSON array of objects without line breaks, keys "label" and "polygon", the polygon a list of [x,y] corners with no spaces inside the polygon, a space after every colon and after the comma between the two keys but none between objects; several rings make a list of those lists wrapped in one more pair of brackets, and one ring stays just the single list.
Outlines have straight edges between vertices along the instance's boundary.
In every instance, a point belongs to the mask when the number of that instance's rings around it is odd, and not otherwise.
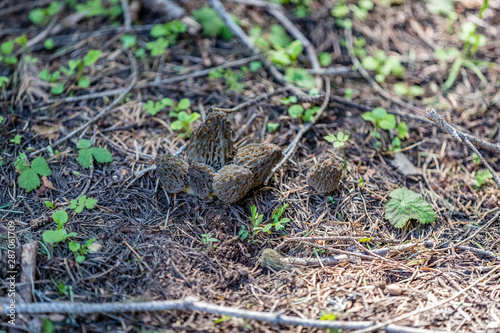
[{"label": "tallest dark morel standing upright at the back of the cluster", "polygon": [[219,170],[233,155],[231,123],[225,112],[208,113],[205,122],[194,132],[187,146],[189,163],[203,163]]}]

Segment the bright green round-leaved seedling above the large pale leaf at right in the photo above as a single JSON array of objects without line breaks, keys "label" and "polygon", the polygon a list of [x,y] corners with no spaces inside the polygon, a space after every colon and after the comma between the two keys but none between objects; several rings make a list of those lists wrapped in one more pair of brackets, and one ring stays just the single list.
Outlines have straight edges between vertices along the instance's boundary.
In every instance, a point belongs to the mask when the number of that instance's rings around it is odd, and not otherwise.
[{"label": "bright green round-leaved seedling above the large pale leaf at right", "polygon": [[401,149],[401,139],[408,135],[408,126],[405,122],[400,122],[396,126],[396,116],[387,113],[387,110],[381,107],[377,107],[370,112],[365,112],[361,115],[365,121],[370,121],[375,124],[375,130],[371,135],[377,140],[377,148],[382,146],[381,134],[379,130],[391,131],[396,130],[397,136],[392,139],[392,145],[389,147],[392,151],[399,151]]}]

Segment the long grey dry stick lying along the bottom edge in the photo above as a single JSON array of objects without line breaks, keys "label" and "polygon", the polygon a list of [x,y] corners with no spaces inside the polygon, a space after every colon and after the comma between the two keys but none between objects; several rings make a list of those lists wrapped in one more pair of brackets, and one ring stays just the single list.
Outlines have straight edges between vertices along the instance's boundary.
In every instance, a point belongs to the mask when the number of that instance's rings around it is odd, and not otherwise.
[{"label": "long grey dry stick lying along the bottom edge", "polygon": [[[281,313],[269,313],[261,311],[250,311],[236,309],[228,306],[220,306],[205,302],[199,302],[194,297],[186,297],[184,300],[174,301],[151,301],[137,303],[104,303],[88,304],[81,302],[57,302],[57,303],[32,303],[19,304],[16,306],[16,312],[21,313],[65,313],[82,315],[88,313],[105,312],[135,312],[135,311],[161,311],[161,310],[181,310],[181,311],[202,311],[217,315],[246,318],[259,320],[274,325],[293,325],[315,328],[333,328],[333,329],[360,329],[373,325],[371,321],[349,321],[340,320],[327,321],[316,319],[303,319],[299,317],[283,316]],[[8,313],[7,304],[3,304],[3,313]],[[401,333],[437,333],[442,331],[426,330],[420,328],[411,328],[398,325],[387,325],[384,327],[387,332]]]}]

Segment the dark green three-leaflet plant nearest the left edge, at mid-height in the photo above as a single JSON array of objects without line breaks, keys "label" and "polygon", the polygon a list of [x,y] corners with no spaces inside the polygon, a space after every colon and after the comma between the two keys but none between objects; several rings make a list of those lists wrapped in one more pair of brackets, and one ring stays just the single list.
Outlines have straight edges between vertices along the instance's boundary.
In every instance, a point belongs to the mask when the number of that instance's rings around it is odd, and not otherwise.
[{"label": "dark green three-leaflet plant nearest the left edge, at mid-height", "polygon": [[39,176],[50,176],[52,174],[52,170],[50,170],[45,158],[35,158],[30,166],[25,153],[19,155],[15,162],[15,168],[21,173],[17,179],[17,183],[19,187],[25,189],[26,192],[31,192],[40,186]]}]

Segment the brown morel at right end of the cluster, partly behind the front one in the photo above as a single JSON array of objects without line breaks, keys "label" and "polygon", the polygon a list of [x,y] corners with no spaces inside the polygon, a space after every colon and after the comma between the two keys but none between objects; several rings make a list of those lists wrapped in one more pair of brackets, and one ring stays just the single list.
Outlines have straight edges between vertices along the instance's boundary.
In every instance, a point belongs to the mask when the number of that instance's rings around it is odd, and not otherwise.
[{"label": "brown morel at right end of the cluster, partly behind the front one", "polygon": [[238,150],[234,164],[249,169],[253,173],[251,187],[264,182],[273,167],[281,160],[281,148],[272,143],[251,143]]}]

